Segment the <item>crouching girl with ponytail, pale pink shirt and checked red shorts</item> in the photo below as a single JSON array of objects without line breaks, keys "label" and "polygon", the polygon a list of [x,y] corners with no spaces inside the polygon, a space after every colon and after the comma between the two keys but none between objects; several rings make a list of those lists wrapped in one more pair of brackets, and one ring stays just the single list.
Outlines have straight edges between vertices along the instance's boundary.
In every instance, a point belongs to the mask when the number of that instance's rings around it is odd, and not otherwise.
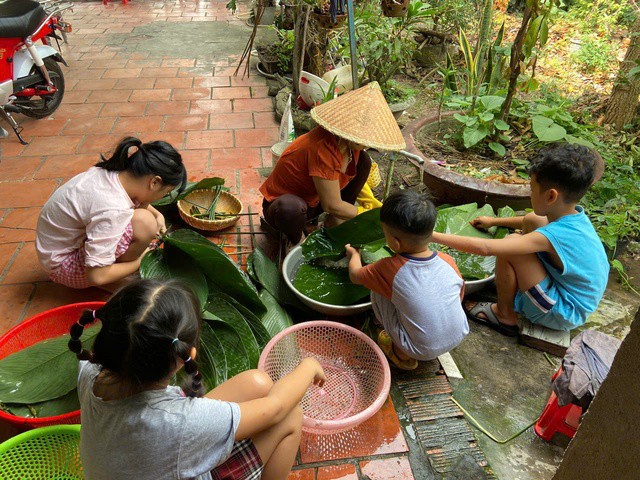
[{"label": "crouching girl with ponytail, pale pink shirt and checked red shorts", "polygon": [[182,157],[166,142],[127,137],[110,158],[100,158],[51,195],[36,227],[40,263],[71,288],[137,271],[149,243],[166,230],[151,203],[187,183]]}]

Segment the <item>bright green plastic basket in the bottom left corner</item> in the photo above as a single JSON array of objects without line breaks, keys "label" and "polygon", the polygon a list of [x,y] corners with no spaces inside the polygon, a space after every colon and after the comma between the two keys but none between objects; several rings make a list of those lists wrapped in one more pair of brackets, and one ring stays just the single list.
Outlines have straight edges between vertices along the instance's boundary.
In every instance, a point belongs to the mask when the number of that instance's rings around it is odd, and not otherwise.
[{"label": "bright green plastic basket in the bottom left corner", "polygon": [[80,462],[80,425],[37,428],[0,445],[2,478],[84,480]]}]

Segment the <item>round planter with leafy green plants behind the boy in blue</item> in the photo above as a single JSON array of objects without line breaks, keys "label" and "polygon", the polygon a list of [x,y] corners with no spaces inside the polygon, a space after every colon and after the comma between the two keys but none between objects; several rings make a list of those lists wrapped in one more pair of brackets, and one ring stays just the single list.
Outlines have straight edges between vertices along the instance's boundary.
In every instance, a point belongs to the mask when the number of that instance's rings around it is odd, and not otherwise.
[{"label": "round planter with leafy green plants behind the boy in blue", "polygon": [[[517,91],[531,92],[538,86],[533,78],[536,49],[547,41],[548,14],[540,2],[528,3],[510,46],[502,45],[504,25],[491,40],[487,39],[490,29],[482,21],[475,48],[460,31],[463,65],[457,66],[447,56],[439,72],[443,78],[441,106],[451,111],[418,119],[403,132],[407,150],[425,159],[434,157],[433,149],[425,146],[438,143],[436,159],[446,165],[425,162],[423,180],[440,202],[527,207],[528,155],[545,142],[584,143],[571,135],[573,122],[566,112],[535,102],[513,102]],[[485,17],[486,12],[483,20]],[[531,68],[530,75],[525,65]],[[477,165],[473,172],[465,171],[469,164]]]}]

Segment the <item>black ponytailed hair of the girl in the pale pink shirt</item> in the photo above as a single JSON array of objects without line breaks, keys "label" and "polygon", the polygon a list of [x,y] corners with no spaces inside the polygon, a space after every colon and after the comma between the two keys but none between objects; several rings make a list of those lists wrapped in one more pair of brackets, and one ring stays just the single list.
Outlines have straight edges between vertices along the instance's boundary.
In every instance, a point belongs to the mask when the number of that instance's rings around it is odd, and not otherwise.
[{"label": "black ponytailed hair of the girl in the pale pink shirt", "polygon": [[[129,155],[129,149],[137,150]],[[110,158],[100,155],[101,161],[96,167],[105,170],[127,170],[134,177],[154,175],[162,179],[165,185],[172,185],[184,190],[187,185],[187,170],[182,162],[182,156],[167,142],[161,140],[149,143],[135,137],[123,138]]]}]

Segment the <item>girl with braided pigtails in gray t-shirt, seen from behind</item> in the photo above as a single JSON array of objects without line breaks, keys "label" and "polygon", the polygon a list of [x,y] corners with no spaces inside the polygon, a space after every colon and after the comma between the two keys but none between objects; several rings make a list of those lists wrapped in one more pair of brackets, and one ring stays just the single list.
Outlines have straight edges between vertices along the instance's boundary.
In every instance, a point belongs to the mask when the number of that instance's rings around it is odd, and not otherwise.
[{"label": "girl with braided pigtails in gray t-shirt, seen from behind", "polygon": [[[91,352],[84,327],[102,323]],[[177,281],[137,280],[71,327],[80,362],[80,456],[88,480],[287,478],[300,443],[300,400],[322,367],[304,359],[275,384],[259,370],[203,396],[200,306]],[[184,368],[184,389],[169,385]]]}]

